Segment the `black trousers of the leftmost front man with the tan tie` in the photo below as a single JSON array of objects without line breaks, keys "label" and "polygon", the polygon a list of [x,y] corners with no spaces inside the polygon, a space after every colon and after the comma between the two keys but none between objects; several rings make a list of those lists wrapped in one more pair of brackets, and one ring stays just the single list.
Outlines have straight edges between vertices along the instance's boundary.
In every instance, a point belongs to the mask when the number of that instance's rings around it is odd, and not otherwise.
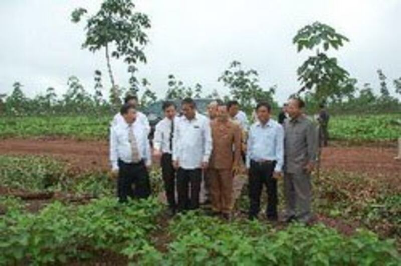
[{"label": "black trousers of the leftmost front man with the tan tie", "polygon": [[126,202],[128,197],[147,198],[150,195],[149,174],[143,160],[139,163],[118,160],[118,167],[117,196],[120,202]]}]

